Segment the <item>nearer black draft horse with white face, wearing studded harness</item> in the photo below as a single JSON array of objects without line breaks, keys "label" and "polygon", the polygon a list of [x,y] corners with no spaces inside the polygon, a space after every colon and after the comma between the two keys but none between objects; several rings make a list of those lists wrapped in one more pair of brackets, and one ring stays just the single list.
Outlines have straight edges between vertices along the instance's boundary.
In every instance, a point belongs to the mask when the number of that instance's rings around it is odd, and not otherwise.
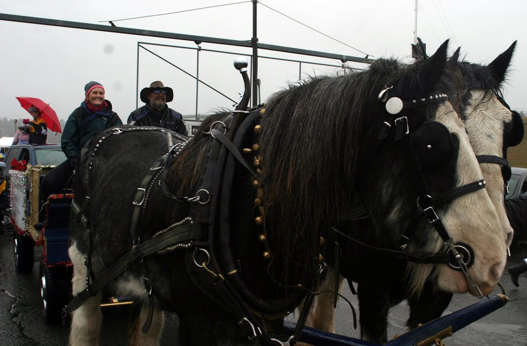
[{"label": "nearer black draft horse with white face, wearing studded harness", "polygon": [[[427,208],[446,230],[419,225],[409,251],[450,258],[442,238],[452,237],[494,254],[476,256],[471,266],[474,285],[492,291],[505,243],[463,124],[437,93],[446,50],[447,42],[425,62],[379,59],[364,72],[279,92],[249,114],[233,145],[222,134],[229,136],[225,114],[211,116],[191,140],[128,126],[95,136],[75,172],[72,286],[87,299],[75,306],[70,344],[99,342],[96,283],[108,273],[109,289],[141,308],[131,344],[159,344],[164,310],[178,314],[182,344],[296,339],[278,326],[316,290],[320,237],[330,236],[361,186],[369,187],[362,197],[378,230],[372,236],[386,243],[401,237],[418,196],[423,204],[432,203],[427,195],[450,196]],[[412,285],[422,287],[432,273],[444,290],[469,290],[461,273],[438,265],[414,266]]]}]

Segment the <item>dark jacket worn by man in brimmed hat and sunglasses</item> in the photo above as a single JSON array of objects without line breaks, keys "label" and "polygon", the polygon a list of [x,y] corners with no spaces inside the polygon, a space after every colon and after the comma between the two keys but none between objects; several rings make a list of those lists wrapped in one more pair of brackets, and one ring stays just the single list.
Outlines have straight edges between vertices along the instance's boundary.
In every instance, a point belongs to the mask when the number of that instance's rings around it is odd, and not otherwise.
[{"label": "dark jacket worn by man in brimmed hat and sunglasses", "polygon": [[161,111],[157,111],[151,108],[150,105],[145,104],[130,113],[126,122],[135,126],[162,127],[183,134],[183,136],[188,136],[189,134],[181,113],[168,108],[167,104]]}]

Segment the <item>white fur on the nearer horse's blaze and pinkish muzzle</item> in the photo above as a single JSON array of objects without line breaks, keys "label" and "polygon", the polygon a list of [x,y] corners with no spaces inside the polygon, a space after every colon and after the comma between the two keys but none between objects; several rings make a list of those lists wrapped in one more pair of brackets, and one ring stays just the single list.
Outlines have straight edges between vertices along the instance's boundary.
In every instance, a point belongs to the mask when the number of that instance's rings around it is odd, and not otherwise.
[{"label": "white fur on the nearer horse's blaze and pinkish muzzle", "polygon": [[[450,102],[440,105],[436,120],[445,124],[459,142],[456,186],[483,179],[464,125]],[[463,242],[472,246],[475,260],[470,272],[483,295],[490,294],[503,273],[506,247],[496,209],[486,189],[454,199],[447,209],[439,213],[439,216],[454,243]],[[438,252],[443,242],[437,234],[434,237],[436,242],[428,248],[428,251]],[[409,247],[411,250],[417,250],[412,248],[412,244]],[[409,272],[412,273],[415,283],[412,285],[413,292],[421,291],[432,268],[432,265],[409,264]],[[469,291],[463,274],[452,270],[446,264],[438,265],[433,274],[437,277],[438,285],[442,290],[454,293]]]}]

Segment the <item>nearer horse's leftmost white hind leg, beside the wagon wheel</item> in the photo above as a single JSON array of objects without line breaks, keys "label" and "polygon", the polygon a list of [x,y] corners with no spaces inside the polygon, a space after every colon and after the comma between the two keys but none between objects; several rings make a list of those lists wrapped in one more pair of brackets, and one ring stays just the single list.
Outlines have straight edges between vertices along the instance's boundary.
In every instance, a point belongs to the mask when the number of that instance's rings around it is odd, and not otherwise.
[{"label": "nearer horse's leftmost white hind leg, beside the wagon wheel", "polygon": [[[75,243],[70,246],[69,253],[73,263],[72,288],[75,296],[86,288],[85,254],[79,251]],[[70,332],[71,346],[99,345],[99,332],[102,323],[100,303],[101,293],[99,292],[73,312]]]}]

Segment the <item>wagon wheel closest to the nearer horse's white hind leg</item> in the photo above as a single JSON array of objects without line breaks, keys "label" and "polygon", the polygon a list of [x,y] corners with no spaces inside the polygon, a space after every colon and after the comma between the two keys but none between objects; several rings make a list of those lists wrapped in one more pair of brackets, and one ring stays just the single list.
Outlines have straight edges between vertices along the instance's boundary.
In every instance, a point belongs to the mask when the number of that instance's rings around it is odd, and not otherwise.
[{"label": "wagon wheel closest to the nearer horse's white hind leg", "polygon": [[40,263],[40,294],[47,323],[61,321],[62,308],[70,302],[72,272],[65,266],[47,267]]}]

